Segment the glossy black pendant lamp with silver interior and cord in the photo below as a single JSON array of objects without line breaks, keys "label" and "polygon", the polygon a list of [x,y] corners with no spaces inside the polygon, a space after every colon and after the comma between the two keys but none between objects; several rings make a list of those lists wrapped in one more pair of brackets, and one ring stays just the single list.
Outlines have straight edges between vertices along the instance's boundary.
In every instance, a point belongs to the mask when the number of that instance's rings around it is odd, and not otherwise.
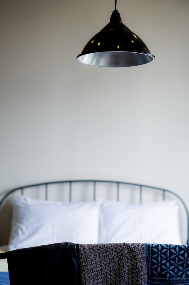
[{"label": "glossy black pendant lamp with silver interior and cord", "polygon": [[79,62],[98,67],[129,67],[155,59],[139,36],[121,22],[116,2],[110,23],[88,41],[77,56]]}]

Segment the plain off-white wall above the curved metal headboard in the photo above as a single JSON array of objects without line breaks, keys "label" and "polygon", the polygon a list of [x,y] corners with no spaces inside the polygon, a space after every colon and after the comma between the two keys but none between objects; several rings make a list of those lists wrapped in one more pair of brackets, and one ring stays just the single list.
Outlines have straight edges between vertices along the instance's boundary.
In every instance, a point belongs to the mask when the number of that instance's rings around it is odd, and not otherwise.
[{"label": "plain off-white wall above the curved metal headboard", "polygon": [[118,1],[153,63],[77,62],[113,9],[113,0],[1,1],[0,192],[123,180],[173,190],[189,207],[189,1]]}]

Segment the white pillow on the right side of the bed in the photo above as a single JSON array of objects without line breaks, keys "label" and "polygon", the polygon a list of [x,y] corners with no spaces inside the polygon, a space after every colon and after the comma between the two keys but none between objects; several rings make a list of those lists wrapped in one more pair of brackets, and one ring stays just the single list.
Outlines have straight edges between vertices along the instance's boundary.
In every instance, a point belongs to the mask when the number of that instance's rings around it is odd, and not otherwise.
[{"label": "white pillow on the right side of the bed", "polygon": [[99,241],[182,244],[178,205],[172,200],[131,205],[104,200]]}]

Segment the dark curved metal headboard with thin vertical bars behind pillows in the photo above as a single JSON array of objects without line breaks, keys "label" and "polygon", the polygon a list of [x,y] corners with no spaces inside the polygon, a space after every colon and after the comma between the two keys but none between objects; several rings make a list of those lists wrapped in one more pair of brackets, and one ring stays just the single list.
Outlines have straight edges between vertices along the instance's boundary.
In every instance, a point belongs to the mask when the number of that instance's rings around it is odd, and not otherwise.
[{"label": "dark curved metal headboard with thin vertical bars behind pillows", "polygon": [[154,187],[154,186],[149,186],[149,185],[143,185],[143,184],[137,184],[137,183],[130,183],[130,182],[121,182],[121,181],[113,181],[113,180],[60,180],[60,181],[54,181],[54,182],[43,182],[43,183],[37,183],[37,184],[31,184],[31,185],[25,185],[22,187],[18,187],[15,189],[10,190],[8,193],[6,193],[3,198],[1,198],[0,201],[0,207],[1,204],[6,200],[6,198],[8,198],[12,193],[16,192],[16,191],[20,191],[21,194],[24,194],[24,190],[28,189],[28,188],[33,188],[33,187],[38,187],[38,186],[44,186],[45,187],[45,199],[48,200],[48,191],[49,191],[49,185],[55,185],[55,184],[65,184],[68,183],[69,184],[69,201],[72,201],[72,186],[74,183],[92,183],[93,185],[93,199],[96,198],[96,188],[97,188],[97,183],[112,183],[116,185],[116,199],[117,201],[120,200],[120,185],[130,185],[130,186],[136,186],[137,188],[139,188],[139,203],[142,202],[142,195],[143,195],[143,189],[151,189],[151,190],[158,190],[162,192],[162,200],[165,200],[165,194],[169,193],[171,194],[173,197],[177,198],[178,201],[180,201],[181,205],[183,206],[183,209],[186,213],[186,223],[187,223],[187,242],[186,244],[189,245],[189,214],[188,214],[188,209],[184,203],[184,201],[182,200],[182,198],[180,198],[180,196],[178,196],[176,193],[167,190],[167,189],[163,189],[163,188],[158,188],[158,187]]}]

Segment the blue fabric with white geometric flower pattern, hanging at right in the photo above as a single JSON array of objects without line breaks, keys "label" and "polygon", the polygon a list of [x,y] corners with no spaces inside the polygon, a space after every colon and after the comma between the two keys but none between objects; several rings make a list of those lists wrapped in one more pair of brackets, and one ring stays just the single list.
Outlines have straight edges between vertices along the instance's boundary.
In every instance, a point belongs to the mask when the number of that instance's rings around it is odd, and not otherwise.
[{"label": "blue fabric with white geometric flower pattern, hanging at right", "polygon": [[146,244],[147,282],[189,284],[189,246]]}]

